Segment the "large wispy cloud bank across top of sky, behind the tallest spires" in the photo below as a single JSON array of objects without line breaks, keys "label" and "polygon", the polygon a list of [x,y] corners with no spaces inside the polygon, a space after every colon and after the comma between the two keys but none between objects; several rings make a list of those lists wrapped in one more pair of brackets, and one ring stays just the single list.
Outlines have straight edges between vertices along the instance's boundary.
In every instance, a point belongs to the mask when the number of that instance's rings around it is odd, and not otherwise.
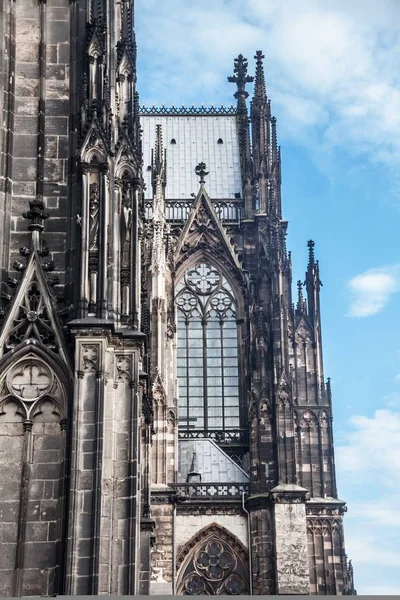
[{"label": "large wispy cloud bank across top of sky, behind the tallest spires", "polygon": [[398,164],[397,0],[147,0],[137,26],[146,103],[230,103],[233,57],[261,48],[281,136]]}]

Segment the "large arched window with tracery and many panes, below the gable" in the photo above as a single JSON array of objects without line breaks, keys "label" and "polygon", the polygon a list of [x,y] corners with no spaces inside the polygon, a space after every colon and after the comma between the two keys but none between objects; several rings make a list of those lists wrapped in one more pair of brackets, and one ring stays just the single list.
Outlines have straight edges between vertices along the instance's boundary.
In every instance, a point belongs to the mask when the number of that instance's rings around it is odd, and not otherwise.
[{"label": "large arched window with tracery and many panes, below the gable", "polygon": [[238,429],[239,368],[236,301],[212,264],[199,261],[176,286],[179,425]]}]

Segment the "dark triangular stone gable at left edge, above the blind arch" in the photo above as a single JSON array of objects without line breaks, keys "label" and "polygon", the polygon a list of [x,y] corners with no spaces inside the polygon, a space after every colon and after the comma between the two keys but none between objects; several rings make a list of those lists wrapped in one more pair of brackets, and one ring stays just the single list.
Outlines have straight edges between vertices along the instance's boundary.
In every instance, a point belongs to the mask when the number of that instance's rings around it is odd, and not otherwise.
[{"label": "dark triangular stone gable at left edge, above the blind arch", "polygon": [[9,308],[0,334],[0,358],[20,344],[40,344],[69,366],[61,327],[49,288],[35,252]]}]

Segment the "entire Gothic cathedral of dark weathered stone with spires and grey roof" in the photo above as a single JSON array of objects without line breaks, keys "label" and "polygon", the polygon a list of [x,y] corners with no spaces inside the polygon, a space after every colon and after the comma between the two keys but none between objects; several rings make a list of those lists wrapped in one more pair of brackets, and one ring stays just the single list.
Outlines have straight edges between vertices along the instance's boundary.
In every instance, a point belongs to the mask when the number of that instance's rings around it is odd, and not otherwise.
[{"label": "entire Gothic cathedral of dark weathered stone with spires and grey roof", "polygon": [[0,596],[355,595],[262,52],[229,108],[136,54],[133,0],[0,0]]}]

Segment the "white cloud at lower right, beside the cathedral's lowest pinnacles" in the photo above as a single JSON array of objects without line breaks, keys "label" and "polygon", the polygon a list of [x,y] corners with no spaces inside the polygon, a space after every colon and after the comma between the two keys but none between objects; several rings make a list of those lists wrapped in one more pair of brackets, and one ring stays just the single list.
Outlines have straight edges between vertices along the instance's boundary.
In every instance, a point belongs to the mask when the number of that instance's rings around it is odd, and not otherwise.
[{"label": "white cloud at lower right, beside the cathedral's lowest pinnacles", "polygon": [[[392,394],[382,398],[386,406],[395,400]],[[356,588],[359,594],[398,595],[400,411],[385,408],[369,417],[353,416],[349,426],[336,449],[336,462],[340,494],[350,500],[346,552],[354,564]]]}]

